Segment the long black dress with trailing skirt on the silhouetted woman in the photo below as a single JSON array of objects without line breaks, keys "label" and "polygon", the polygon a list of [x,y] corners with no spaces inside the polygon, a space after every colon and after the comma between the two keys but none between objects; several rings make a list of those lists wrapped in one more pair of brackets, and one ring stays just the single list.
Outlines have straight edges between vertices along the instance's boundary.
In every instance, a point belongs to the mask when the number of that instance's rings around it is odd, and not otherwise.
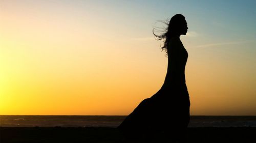
[{"label": "long black dress with trailing skirt on the silhouetted woman", "polygon": [[189,123],[189,94],[185,81],[188,53],[179,38],[170,39],[168,67],[162,88],[144,99],[125,118],[118,129],[129,138],[140,138],[159,132],[170,138],[183,138]]}]

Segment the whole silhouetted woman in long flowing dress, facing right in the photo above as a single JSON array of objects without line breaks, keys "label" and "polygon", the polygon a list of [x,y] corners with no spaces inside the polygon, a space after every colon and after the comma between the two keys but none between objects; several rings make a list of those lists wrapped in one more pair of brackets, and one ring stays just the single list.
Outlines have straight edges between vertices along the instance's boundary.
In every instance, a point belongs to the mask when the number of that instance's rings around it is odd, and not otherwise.
[{"label": "whole silhouetted woman in long flowing dress, facing right", "polygon": [[118,126],[132,142],[186,142],[189,123],[189,95],[185,82],[187,51],[180,36],[187,33],[187,22],[181,14],[174,15],[162,35],[162,50],[168,56],[168,67],[161,89],[151,98],[144,99]]}]

